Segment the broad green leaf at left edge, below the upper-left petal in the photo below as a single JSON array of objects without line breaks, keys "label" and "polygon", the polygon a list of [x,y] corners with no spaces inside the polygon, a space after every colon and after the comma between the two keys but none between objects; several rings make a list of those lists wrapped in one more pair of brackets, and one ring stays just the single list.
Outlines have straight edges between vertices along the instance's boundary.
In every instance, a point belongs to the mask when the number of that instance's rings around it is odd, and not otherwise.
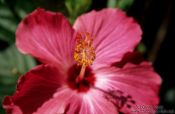
[{"label": "broad green leaf at left edge, below the upper-left petal", "polygon": [[13,84],[16,79],[36,65],[35,60],[18,52],[13,45],[0,53],[0,83]]}]

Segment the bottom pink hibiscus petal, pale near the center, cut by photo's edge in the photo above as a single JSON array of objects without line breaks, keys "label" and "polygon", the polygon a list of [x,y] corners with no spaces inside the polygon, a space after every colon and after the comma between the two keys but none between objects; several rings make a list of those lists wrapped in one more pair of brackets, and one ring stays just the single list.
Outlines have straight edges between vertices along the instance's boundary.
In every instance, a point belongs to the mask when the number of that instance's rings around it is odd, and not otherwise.
[{"label": "bottom pink hibiscus petal, pale near the center, cut by photo's edge", "polygon": [[117,114],[113,104],[103,93],[93,89],[77,93],[68,88],[57,91],[54,98],[45,102],[34,114]]}]

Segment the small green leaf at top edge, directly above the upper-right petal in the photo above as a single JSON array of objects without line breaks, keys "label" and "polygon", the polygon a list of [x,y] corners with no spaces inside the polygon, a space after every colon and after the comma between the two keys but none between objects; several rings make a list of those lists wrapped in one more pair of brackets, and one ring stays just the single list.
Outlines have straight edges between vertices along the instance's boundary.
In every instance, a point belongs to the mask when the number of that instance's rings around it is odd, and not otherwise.
[{"label": "small green leaf at top edge, directly above the upper-right petal", "polygon": [[133,3],[134,0],[108,0],[107,6],[112,8],[118,7],[127,11]]}]

